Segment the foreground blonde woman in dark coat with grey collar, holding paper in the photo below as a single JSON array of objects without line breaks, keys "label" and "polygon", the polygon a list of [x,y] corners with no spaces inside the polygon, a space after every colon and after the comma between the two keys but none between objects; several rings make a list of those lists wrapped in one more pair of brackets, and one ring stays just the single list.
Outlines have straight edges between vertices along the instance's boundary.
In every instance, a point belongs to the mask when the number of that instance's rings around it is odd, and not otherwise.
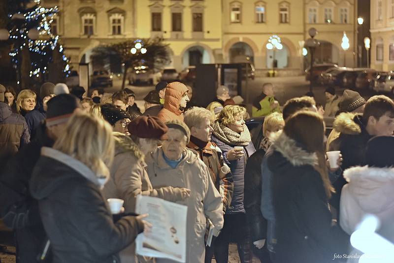
[{"label": "foreground blonde woman in dark coat with grey collar, holding paper", "polygon": [[113,156],[110,125],[86,113],[74,113],[53,148],[42,148],[30,191],[38,200],[54,262],[120,262],[118,252],[149,230],[141,220],[145,215],[112,221],[101,188]]}]

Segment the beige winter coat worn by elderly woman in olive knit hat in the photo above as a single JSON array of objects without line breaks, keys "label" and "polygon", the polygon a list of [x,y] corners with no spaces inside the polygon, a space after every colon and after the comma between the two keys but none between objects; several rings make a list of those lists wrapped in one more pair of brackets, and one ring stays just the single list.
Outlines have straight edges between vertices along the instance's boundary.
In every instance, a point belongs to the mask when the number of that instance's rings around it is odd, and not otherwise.
[{"label": "beige winter coat worn by elderly woman in olive knit hat", "polygon": [[[165,162],[163,149],[159,147],[156,152],[146,156],[147,169],[154,187],[171,184],[191,190],[188,199],[177,202],[188,206],[186,262],[203,263],[206,217],[215,227],[214,235],[218,235],[223,228],[222,198],[212,182],[208,167],[199,159],[198,154],[185,149],[183,155],[184,159],[173,169]],[[156,262],[172,261],[156,259]]]}]

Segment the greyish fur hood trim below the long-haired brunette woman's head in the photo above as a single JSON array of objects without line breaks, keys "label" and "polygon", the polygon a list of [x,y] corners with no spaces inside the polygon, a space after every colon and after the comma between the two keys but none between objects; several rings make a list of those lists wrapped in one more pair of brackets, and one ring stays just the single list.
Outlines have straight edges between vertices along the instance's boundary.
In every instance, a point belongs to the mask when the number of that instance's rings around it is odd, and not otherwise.
[{"label": "greyish fur hood trim below the long-haired brunette woman's head", "polygon": [[310,153],[302,149],[301,146],[285,132],[276,132],[270,136],[272,147],[278,151],[294,166],[316,165],[318,157],[316,153]]}]

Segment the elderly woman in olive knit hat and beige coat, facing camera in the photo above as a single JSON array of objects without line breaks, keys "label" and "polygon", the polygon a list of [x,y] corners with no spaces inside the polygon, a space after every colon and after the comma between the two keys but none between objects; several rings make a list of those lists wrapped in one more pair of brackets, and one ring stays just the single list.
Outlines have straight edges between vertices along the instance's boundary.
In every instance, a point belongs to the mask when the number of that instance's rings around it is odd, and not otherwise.
[{"label": "elderly woman in olive knit hat and beige coat, facing camera", "polygon": [[[179,204],[188,206],[186,262],[203,263],[206,218],[214,226],[214,236],[223,228],[222,197],[212,182],[208,167],[197,152],[186,147],[190,138],[185,123],[173,120],[166,123],[168,132],[163,146],[146,157],[148,175],[153,187],[171,185],[190,189],[190,197]],[[157,259],[156,262],[172,262]]]}]

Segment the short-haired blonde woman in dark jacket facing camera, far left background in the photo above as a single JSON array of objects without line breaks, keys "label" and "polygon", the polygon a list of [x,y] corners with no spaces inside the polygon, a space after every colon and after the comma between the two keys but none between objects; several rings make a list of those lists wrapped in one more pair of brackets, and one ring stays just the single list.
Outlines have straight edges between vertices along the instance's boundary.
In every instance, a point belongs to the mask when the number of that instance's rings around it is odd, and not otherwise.
[{"label": "short-haired blonde woman in dark jacket facing camera, far left background", "polygon": [[44,112],[36,108],[37,95],[32,90],[22,90],[16,99],[16,111],[25,117],[29,127],[30,137],[35,136],[35,129],[45,119]]}]

